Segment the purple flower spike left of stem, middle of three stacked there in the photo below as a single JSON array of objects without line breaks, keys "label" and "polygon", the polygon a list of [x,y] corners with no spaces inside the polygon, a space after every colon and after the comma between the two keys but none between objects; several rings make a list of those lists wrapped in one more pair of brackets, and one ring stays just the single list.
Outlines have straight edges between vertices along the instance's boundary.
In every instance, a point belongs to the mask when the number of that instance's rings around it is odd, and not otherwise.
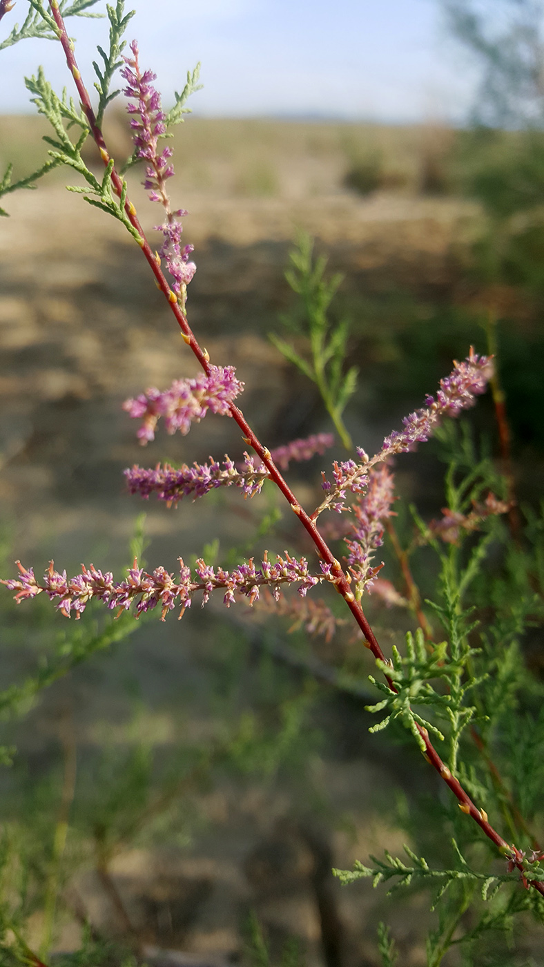
[{"label": "purple flower spike left of stem, middle of three stacked there", "polygon": [[238,486],[244,497],[253,497],[268,477],[268,470],[256,469],[253,457],[248,454],[244,454],[240,468],[225,454],[222,466],[211,456],[210,463],[193,463],[192,467],[184,463],[176,469],[168,463],[163,466],[158,463],[155,469],[135,465],[125,471],[129,493],[137,493],[146,500],[153,493],[169,506],[176,505],[182,497],[194,500],[204,497],[218,486]]}]

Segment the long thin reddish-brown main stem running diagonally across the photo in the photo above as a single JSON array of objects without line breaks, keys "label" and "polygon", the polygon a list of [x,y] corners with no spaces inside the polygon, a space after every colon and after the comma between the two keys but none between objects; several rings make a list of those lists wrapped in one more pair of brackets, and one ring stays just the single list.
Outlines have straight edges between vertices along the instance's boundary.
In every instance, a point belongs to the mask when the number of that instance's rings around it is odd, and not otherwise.
[{"label": "long thin reddish-brown main stem running diagonally across the photo", "polygon": [[[100,128],[97,124],[97,119],[89,99],[89,94],[85,88],[85,85],[81,80],[81,74],[79,73],[77,64],[75,62],[75,57],[73,56],[72,44],[67,34],[64,20],[59,12],[58,0],[49,0],[49,6],[51,8],[51,12],[55,18],[55,22],[58,27],[59,40],[63,46],[68,67],[75,81],[77,93],[81,101],[81,107],[87,117],[91,132],[93,133],[93,137],[100,150],[100,157],[104,165],[107,165],[110,161],[110,156],[109,156],[105,141],[103,139],[102,132],[100,131]],[[117,194],[121,196],[121,192],[123,190],[123,181],[119,177],[115,168],[113,168],[111,172],[111,183],[113,185],[114,190],[117,192]],[[180,329],[182,330],[182,334],[186,344],[190,347],[190,349],[196,356],[198,362],[200,363],[204,371],[207,374],[209,374],[210,357],[208,356],[208,353],[205,350],[201,349],[201,347],[199,346],[196,338],[194,337],[188,325],[188,322],[186,319],[186,313],[179,306],[178,299],[175,293],[172,292],[166,278],[161,272],[160,265],[158,264],[158,260],[156,259],[144,235],[142,226],[140,225],[140,222],[136,216],[136,210],[132,205],[132,203],[129,201],[129,197],[127,197],[125,202],[125,211],[129,217],[130,223],[141,236],[141,239],[142,239],[141,249],[149,265],[151,266],[151,269],[155,278],[157,279],[158,288],[163,293],[165,298],[168,300],[170,308],[172,309],[172,312],[176,316],[176,320],[178,322],[178,325],[180,326]],[[321,534],[319,533],[319,530],[315,524],[315,521],[301,508],[301,505],[297,501],[290,487],[284,481],[277,467],[274,465],[271,459],[270,451],[266,447],[264,447],[262,443],[260,443],[260,441],[255,436],[253,430],[251,429],[251,427],[247,424],[243,416],[242,410],[240,410],[238,406],[235,406],[234,403],[230,403],[229,412],[230,412],[230,415],[236,421],[236,423],[240,426],[243,432],[243,438],[245,442],[248,444],[248,446],[253,448],[256,454],[258,454],[261,457],[261,460],[263,461],[263,463],[265,464],[269,472],[269,476],[271,480],[280,489],[281,493],[290,504],[292,510],[300,518],[301,524],[309,534],[312,541],[314,542],[319,556],[323,561],[325,561],[326,564],[330,566],[331,573],[336,575],[334,577],[334,584],[335,584],[336,590],[338,594],[342,596],[344,601],[346,601],[346,604],[348,605],[350,611],[352,612],[355,620],[358,623],[358,627],[360,628],[360,630],[363,632],[365,636],[367,647],[372,652],[374,658],[384,662],[385,664],[390,664],[390,662],[386,659],[386,656],[384,655],[384,652],[382,651],[373,630],[370,628],[370,625],[366,620],[366,617],[362,611],[360,604],[358,603],[358,601],[355,600],[355,596],[350,588],[351,579],[349,578],[349,576],[346,576],[344,571],[342,571],[342,568],[339,562],[335,559],[334,555],[332,554],[332,551],[329,549],[328,544],[324,541]],[[387,673],[385,673],[385,677],[389,688],[396,691],[394,683],[392,679],[387,675]],[[428,762],[433,766],[434,769],[436,769],[439,775],[444,779],[444,782],[446,783],[446,785],[448,785],[449,788],[451,789],[453,795],[459,800],[459,806],[461,807],[461,809],[464,812],[466,812],[468,815],[472,816],[472,819],[474,820],[474,822],[478,824],[478,826],[481,828],[483,833],[489,839],[491,839],[491,841],[499,848],[499,850],[501,850],[501,853],[503,853],[505,856],[507,856],[509,859],[512,860],[512,862],[520,869],[520,872],[521,872],[523,870],[522,853],[515,846],[510,846],[502,838],[502,836],[499,835],[499,833],[497,833],[496,830],[494,830],[494,828],[489,824],[489,822],[487,821],[487,817],[484,818],[485,814],[482,814],[480,810],[476,808],[476,806],[474,806],[468,793],[465,792],[465,790],[463,789],[458,779],[456,779],[451,775],[449,769],[442,761],[440,755],[438,754],[436,749],[432,746],[431,742],[429,741],[427,730],[425,728],[422,728],[419,725],[417,726],[417,730],[423,740],[423,743],[425,746],[425,756]],[[535,890],[537,890],[540,894],[544,895],[544,883],[541,883],[540,881],[528,881],[528,882],[530,886],[534,887]]]}]

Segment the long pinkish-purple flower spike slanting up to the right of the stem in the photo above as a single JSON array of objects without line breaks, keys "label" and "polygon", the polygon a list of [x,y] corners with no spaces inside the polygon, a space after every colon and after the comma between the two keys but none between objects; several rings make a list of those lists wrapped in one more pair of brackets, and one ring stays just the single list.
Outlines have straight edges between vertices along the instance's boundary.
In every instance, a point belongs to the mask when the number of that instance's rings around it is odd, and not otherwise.
[{"label": "long pinkish-purple flower spike slanting up to the right of the stem", "polygon": [[347,491],[360,493],[368,482],[368,474],[372,466],[395,454],[415,450],[418,443],[425,443],[440,425],[443,417],[457,417],[462,410],[473,406],[475,397],[485,393],[492,376],[492,357],[477,356],[471,346],[467,359],[463,363],[455,362],[449,376],[441,379],[437,398],[427,396],[425,406],[404,418],[404,429],[393,430],[384,440],[382,450],[378,454],[369,458],[368,454],[358,447],[360,462],[345,460],[343,463],[334,463],[332,471],[334,483],[327,480],[323,474],[322,486],[327,496],[314,512],[314,519],[329,509],[338,513],[345,510],[344,500]]}]

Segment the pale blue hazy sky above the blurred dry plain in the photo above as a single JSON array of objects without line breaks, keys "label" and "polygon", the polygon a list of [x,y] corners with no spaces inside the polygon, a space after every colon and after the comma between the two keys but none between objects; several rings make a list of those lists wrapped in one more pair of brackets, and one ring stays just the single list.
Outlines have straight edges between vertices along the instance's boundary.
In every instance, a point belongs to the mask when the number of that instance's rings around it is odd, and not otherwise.
[{"label": "pale blue hazy sky above the blurred dry plain", "polygon": [[[446,36],[439,0],[128,0],[131,8],[128,40],[137,38],[164,103],[202,62],[205,89],[191,103],[201,116],[462,120],[472,101],[475,75]],[[0,40],[26,10],[17,0]],[[107,24],[72,18],[69,29],[92,87]],[[39,64],[56,89],[70,89],[58,44],[23,41],[0,52],[0,112],[29,109],[21,77]]]}]

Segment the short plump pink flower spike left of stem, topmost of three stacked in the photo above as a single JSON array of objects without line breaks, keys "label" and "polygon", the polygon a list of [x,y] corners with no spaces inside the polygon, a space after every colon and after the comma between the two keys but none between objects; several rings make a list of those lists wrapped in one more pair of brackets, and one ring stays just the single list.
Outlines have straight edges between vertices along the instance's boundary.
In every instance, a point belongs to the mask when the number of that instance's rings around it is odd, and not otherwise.
[{"label": "short plump pink flower spike left of stem, topmost of three stacked", "polygon": [[185,436],[191,423],[199,423],[208,410],[230,416],[229,403],[243,392],[243,383],[236,378],[234,366],[210,366],[193,379],[175,379],[168,390],[155,388],[127,399],[123,409],[134,420],[141,420],[137,436],[142,446],[155,439],[157,421],[162,417],[168,433],[180,430]]}]

